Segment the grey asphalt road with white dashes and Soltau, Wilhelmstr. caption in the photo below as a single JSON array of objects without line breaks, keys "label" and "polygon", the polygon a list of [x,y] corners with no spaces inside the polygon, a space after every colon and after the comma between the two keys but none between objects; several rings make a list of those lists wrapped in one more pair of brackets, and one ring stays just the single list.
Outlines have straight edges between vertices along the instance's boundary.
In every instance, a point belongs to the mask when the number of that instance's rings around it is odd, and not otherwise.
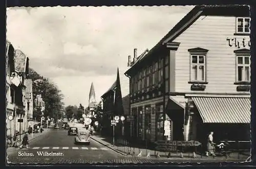
[{"label": "grey asphalt road with white dashes and Soltau, Wilhelmstr. caption", "polygon": [[[46,155],[50,153],[50,155]],[[52,154],[51,154],[52,153]],[[68,130],[51,129],[29,142],[29,149],[7,151],[9,164],[63,164],[63,163],[168,163],[188,162],[186,159],[157,159],[121,155],[91,139],[90,145],[74,144]],[[220,162],[215,159],[189,159],[190,162]],[[224,162],[225,159],[221,160]],[[232,161],[232,160],[227,160]]]}]

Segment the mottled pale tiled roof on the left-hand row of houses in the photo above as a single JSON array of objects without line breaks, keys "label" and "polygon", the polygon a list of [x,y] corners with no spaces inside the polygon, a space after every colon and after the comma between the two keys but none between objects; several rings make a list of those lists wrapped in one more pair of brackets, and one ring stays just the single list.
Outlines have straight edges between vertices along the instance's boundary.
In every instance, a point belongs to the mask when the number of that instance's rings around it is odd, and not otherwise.
[{"label": "mottled pale tiled roof on the left-hand row of houses", "polygon": [[18,72],[26,72],[27,56],[20,50],[15,50],[15,70]]}]

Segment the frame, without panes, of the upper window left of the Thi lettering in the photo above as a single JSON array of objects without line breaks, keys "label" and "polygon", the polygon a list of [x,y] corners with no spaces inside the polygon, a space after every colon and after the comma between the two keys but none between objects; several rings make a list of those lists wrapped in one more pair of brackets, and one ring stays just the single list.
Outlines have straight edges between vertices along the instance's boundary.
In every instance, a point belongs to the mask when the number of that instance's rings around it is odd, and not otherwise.
[{"label": "frame, without panes, of the upper window left of the Thi lettering", "polygon": [[[198,59],[198,62],[197,63],[193,63],[192,61],[193,61],[193,56],[197,56],[197,59]],[[203,56],[203,58],[204,58],[204,63],[199,63],[199,56]],[[193,52],[190,52],[190,55],[189,55],[189,57],[190,57],[190,59],[189,59],[189,61],[190,61],[190,67],[189,67],[189,80],[190,80],[190,82],[206,82],[206,78],[207,78],[207,76],[206,76],[206,73],[207,73],[207,69],[206,69],[206,58],[207,58],[207,55],[206,55],[206,53],[193,53]],[[194,80],[194,79],[192,79],[192,76],[191,76],[191,74],[192,74],[192,71],[193,71],[193,65],[197,65],[198,67],[197,67],[197,77],[198,77],[198,70],[199,70],[199,66],[204,66],[204,72],[203,72],[203,75],[204,75],[204,80]],[[198,78],[197,78],[198,79]]]}]

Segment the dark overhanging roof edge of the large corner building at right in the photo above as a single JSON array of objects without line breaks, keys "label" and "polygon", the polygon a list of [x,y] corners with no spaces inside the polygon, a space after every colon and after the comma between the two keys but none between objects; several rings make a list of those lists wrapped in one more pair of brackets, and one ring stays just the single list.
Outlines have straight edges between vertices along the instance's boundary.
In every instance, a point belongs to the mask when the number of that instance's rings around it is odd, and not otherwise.
[{"label": "dark overhanging roof edge of the large corner building at right", "polygon": [[[142,59],[152,57],[152,54],[161,46],[172,42],[190,25],[192,25],[201,15],[223,15],[223,16],[250,16],[249,7],[242,5],[198,5],[190,10]],[[130,74],[132,69],[136,69],[138,64],[134,64],[125,74]]]}]

